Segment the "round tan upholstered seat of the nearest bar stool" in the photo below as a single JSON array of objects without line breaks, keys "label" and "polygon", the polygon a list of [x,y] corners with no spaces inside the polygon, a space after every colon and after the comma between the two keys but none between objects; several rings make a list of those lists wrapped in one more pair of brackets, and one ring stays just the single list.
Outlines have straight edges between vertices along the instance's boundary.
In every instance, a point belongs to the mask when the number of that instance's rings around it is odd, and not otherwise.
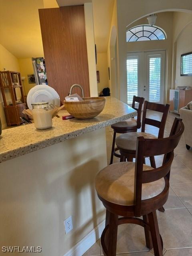
[{"label": "round tan upholstered seat of the nearest bar stool", "polygon": [[[143,170],[153,170],[153,168],[144,164]],[[111,164],[97,174],[96,191],[108,202],[124,206],[134,205],[134,175],[135,163],[133,162]],[[142,184],[142,200],[157,196],[164,187],[164,178]]]}]

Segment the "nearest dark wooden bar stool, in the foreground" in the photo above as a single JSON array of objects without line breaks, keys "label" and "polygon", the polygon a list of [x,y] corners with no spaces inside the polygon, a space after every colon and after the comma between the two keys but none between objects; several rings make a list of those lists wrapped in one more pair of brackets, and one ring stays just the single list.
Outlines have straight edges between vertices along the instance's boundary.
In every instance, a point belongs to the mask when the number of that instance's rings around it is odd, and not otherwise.
[{"label": "nearest dark wooden bar stool, in the foreground", "polygon": [[[167,201],[173,151],[183,131],[182,120],[175,118],[170,137],[137,138],[135,163],[118,162],[97,174],[96,191],[106,208],[106,226],[101,236],[105,256],[116,256],[118,225],[125,223],[144,227],[146,246],[154,248],[155,256],[163,255],[156,210]],[[161,154],[164,154],[161,167],[154,169],[144,164],[144,157]],[[140,216],[143,220],[136,218]]]}]

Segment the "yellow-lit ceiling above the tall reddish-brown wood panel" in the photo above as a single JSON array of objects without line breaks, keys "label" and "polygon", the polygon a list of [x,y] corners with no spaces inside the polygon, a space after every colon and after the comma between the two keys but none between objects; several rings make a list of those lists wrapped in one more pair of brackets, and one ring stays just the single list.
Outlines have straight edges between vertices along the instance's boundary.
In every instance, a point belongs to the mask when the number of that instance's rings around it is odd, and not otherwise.
[{"label": "yellow-lit ceiling above the tall reddish-brown wood panel", "polygon": [[[87,0],[57,0],[88,2]],[[90,0],[89,0],[90,2]],[[97,52],[106,52],[114,0],[92,0]],[[0,44],[17,58],[43,56],[38,9],[58,7],[56,0],[0,0]]]}]

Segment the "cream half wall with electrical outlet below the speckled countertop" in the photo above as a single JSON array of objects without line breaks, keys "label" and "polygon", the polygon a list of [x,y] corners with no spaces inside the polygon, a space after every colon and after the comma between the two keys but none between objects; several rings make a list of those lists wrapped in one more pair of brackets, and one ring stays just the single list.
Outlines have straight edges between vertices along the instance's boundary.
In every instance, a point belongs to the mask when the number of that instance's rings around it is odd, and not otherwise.
[{"label": "cream half wall with electrical outlet below the speckled countertop", "polygon": [[41,246],[42,256],[63,256],[104,220],[94,178],[106,165],[105,128],[2,162],[0,248]]}]

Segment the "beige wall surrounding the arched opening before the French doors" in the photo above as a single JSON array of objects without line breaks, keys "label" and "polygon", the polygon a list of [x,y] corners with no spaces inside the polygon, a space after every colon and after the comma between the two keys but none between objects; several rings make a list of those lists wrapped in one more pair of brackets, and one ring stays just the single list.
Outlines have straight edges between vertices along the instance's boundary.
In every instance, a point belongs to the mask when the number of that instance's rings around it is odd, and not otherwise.
[{"label": "beige wall surrounding the arched opening before the French doors", "polygon": [[192,10],[192,1],[189,0],[119,0],[117,1],[117,20],[118,20],[118,64],[120,86],[120,99],[126,102],[126,27],[135,20],[148,14],[162,11]]}]

